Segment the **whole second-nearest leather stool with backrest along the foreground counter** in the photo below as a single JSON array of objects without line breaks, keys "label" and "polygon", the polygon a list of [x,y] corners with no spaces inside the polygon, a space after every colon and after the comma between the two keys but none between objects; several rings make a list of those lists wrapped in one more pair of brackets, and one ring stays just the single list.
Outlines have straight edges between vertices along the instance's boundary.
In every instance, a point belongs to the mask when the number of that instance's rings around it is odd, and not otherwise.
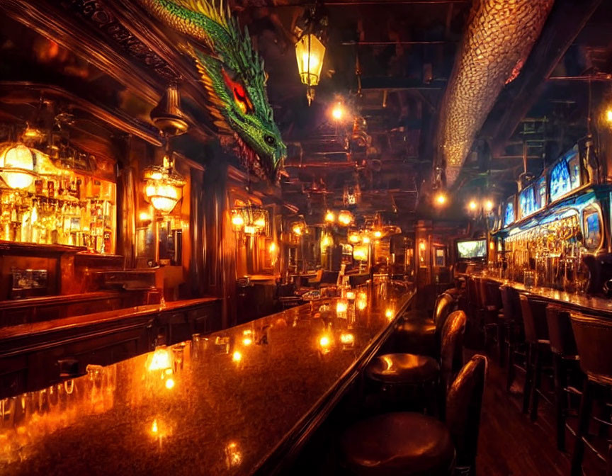
[{"label": "whole second-nearest leather stool with backrest along the foreground counter", "polygon": [[[414,353],[387,353],[376,356],[365,368],[365,377],[380,387],[390,397],[390,403],[400,400],[421,399],[420,408],[433,403],[431,391],[437,390],[438,411],[443,414],[443,395],[453,376],[463,363],[463,333],[465,331],[465,312],[452,312],[442,329],[440,359]],[[425,391],[424,391],[425,390]],[[425,399],[425,400],[423,400]],[[430,407],[431,408],[431,407]]]}]

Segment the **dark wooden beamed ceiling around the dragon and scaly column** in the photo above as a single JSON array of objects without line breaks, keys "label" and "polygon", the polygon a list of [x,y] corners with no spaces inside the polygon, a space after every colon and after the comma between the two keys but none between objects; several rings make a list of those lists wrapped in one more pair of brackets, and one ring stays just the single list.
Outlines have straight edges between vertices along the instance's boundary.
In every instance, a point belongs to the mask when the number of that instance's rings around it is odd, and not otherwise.
[{"label": "dark wooden beamed ceiling around the dragon and scaly column", "polygon": [[[146,124],[150,108],[167,82],[178,79],[183,108],[194,125],[181,146],[187,155],[195,154],[193,159],[205,161],[195,144],[210,140],[214,131],[193,64],[176,48],[176,33],[135,2],[33,4],[31,10],[16,0],[3,6],[13,18],[6,18],[0,31],[3,79],[21,79],[15,73],[24,64],[37,64],[30,80],[61,83],[89,101],[137,118],[145,131],[151,130]],[[268,94],[288,143],[283,199],[317,222],[327,208],[342,208],[344,188],[358,183],[358,211],[364,214],[382,211],[404,222],[431,216],[422,185],[431,181],[436,125],[444,113],[441,98],[472,2],[326,2],[327,55],[310,107],[293,47],[295,24],[306,4],[236,0],[230,6],[249,26],[266,61]],[[88,42],[77,41],[85,36]],[[22,40],[15,44],[14,38]],[[50,38],[60,49],[45,57]],[[475,194],[501,199],[516,191],[523,151],[528,169],[538,174],[583,137],[589,111],[609,99],[611,78],[612,2],[555,0],[531,57],[502,91],[475,141],[453,191],[456,207],[448,208],[448,215],[456,216],[458,204]],[[357,127],[330,120],[329,108],[338,100],[359,118]]]}]

